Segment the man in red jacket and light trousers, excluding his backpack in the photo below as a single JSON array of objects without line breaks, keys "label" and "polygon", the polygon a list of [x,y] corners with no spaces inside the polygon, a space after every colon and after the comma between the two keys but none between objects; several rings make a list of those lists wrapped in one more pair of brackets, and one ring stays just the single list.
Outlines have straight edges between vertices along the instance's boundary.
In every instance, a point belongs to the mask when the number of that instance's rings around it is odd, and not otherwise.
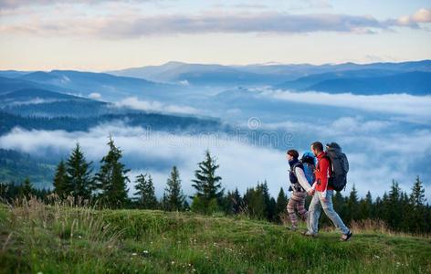
[{"label": "man in red jacket and light trousers, excluding his backpack", "polygon": [[319,231],[319,217],[321,216],[321,208],[328,216],[335,227],[342,231],[341,240],[347,241],[352,237],[352,232],[342,222],[342,218],[335,212],[332,205],[333,187],[328,184],[328,179],[331,177],[331,161],[323,151],[321,142],[311,143],[311,151],[318,159],[317,168],[315,171],[316,182],[308,191],[312,195],[309,206],[309,217],[307,219],[307,232],[305,236],[314,237]]}]

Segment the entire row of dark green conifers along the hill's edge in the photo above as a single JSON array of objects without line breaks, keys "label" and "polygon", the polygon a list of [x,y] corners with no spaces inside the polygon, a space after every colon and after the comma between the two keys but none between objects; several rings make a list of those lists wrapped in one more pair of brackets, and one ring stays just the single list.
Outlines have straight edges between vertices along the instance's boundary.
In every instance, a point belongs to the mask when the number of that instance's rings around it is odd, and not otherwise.
[{"label": "entire row of dark green conifers along the hill's edge", "polygon": [[[0,184],[0,195],[6,200],[28,195],[47,200],[48,195],[55,194],[61,199],[73,197],[75,201],[83,200],[110,208],[190,210],[200,214],[243,215],[275,223],[287,220],[289,198],[283,187],[280,187],[276,198],[269,194],[266,181],[247,188],[243,195],[238,189],[226,192],[222,178],[217,175],[219,165],[209,151],[205,152],[205,159],[197,164],[194,172],[194,195],[184,195],[178,168],[173,166],[161,199],[155,195],[151,174],[139,174],[134,178],[133,196],[130,197],[127,188],[131,182],[130,170],[121,163],[121,149],[111,137],[107,144],[109,151],[100,160],[100,169],[96,173],[77,143],[68,159],[58,163],[52,190],[36,189],[27,178],[22,184]],[[307,208],[309,203],[310,197]],[[359,198],[353,185],[349,195],[337,192],[333,203],[347,223],[371,219],[384,221],[395,231],[431,233],[431,206],[426,204],[425,188],[419,176],[409,194],[393,181],[389,192],[382,197],[373,198],[368,191],[365,197]],[[321,223],[330,224],[330,220],[323,216]]]}]

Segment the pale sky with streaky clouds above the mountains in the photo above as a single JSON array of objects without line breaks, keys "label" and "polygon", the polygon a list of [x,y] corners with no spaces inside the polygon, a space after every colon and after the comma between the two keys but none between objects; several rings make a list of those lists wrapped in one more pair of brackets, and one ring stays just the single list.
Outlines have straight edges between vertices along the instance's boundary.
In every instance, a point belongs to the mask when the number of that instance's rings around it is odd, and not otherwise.
[{"label": "pale sky with streaky clouds above the mountains", "polygon": [[431,58],[429,0],[0,0],[0,69]]}]

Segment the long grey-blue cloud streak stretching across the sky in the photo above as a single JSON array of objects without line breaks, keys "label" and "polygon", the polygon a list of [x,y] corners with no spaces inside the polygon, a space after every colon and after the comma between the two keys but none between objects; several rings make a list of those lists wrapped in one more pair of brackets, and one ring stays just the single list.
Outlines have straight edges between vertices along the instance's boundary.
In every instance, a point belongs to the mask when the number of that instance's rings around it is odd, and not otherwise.
[{"label": "long grey-blue cloud streak stretching across the sky", "polygon": [[[424,20],[424,15],[419,16]],[[32,18],[32,19],[31,19]],[[369,34],[391,26],[417,27],[400,23],[399,19],[379,21],[373,16],[342,14],[289,14],[285,12],[232,13],[202,12],[156,16],[121,15],[72,16],[49,19],[31,17],[28,21],[6,23],[1,33],[26,33],[43,36],[75,36],[132,38],[202,33],[277,33],[342,32]],[[409,19],[410,20],[410,19]],[[408,22],[410,22],[407,20]]]}]

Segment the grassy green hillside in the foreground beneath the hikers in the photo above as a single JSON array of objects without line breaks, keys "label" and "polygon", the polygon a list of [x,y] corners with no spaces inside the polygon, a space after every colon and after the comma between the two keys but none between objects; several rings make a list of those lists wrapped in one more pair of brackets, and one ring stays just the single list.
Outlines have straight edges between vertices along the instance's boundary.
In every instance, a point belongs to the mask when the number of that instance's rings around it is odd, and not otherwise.
[{"label": "grassy green hillside in the foreground beneath the hikers", "polygon": [[0,205],[4,273],[430,273],[431,238],[355,231],[302,237],[192,213]]}]

